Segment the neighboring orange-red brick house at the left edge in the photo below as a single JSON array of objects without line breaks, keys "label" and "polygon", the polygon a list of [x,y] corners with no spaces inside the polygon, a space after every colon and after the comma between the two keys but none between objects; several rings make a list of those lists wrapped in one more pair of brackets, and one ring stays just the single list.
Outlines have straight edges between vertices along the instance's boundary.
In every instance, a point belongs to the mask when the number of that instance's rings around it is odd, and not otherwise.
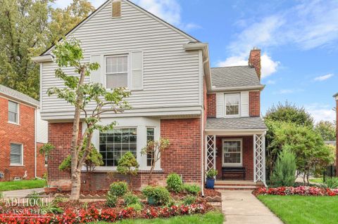
[{"label": "neighboring orange-red brick house at the left edge", "polygon": [[39,101],[0,85],[0,181],[42,178],[46,173],[39,147],[48,140]]}]

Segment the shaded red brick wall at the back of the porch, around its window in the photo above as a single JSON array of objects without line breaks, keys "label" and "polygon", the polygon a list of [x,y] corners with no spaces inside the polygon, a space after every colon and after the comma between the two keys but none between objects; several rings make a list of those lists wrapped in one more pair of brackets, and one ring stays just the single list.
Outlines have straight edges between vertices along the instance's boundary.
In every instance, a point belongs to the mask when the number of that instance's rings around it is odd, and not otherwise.
[{"label": "shaded red brick wall at the back of the porch, around its window", "polygon": [[[224,138],[242,138],[243,140],[243,166],[246,168],[246,180],[253,180],[253,136],[217,136],[216,147],[218,148],[218,156],[216,157],[216,169],[218,170],[217,178],[222,178],[222,139]],[[241,179],[241,176],[233,176],[235,179]],[[225,178],[226,180],[227,178]],[[232,178],[229,179],[231,180]]]}]

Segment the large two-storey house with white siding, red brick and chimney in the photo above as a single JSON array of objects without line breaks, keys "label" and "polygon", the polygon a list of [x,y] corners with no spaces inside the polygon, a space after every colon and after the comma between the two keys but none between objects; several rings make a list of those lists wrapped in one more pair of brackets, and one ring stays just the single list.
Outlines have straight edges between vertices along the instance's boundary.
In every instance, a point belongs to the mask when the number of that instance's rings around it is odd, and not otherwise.
[{"label": "large two-storey house with white siding, red brick and chimney", "polygon": [[[96,189],[108,187],[112,180],[107,173],[116,171],[127,151],[140,164],[133,185],[146,184],[150,167],[140,152],[147,140],[160,137],[170,140],[170,148],[156,164],[158,183],[175,172],[187,183],[203,185],[205,171],[215,167],[222,173],[222,166],[244,167],[246,180],[265,181],[260,50],[251,51],[248,66],[211,68],[208,44],[127,0],[106,1],[68,37],[81,41],[84,62],[101,65],[86,81],[106,88],[124,86],[132,93],[127,99],[132,110],[102,118],[103,124],[117,121],[115,129],[93,134],[93,144],[104,157],[104,166],[92,176]],[[41,67],[42,118],[49,121],[49,142],[56,145],[50,177],[53,185],[66,185],[69,173],[59,171],[58,165],[70,152],[74,108],[46,94],[52,86],[63,87],[54,74],[52,50],[33,60]],[[83,187],[88,185],[85,177],[84,172]]]}]

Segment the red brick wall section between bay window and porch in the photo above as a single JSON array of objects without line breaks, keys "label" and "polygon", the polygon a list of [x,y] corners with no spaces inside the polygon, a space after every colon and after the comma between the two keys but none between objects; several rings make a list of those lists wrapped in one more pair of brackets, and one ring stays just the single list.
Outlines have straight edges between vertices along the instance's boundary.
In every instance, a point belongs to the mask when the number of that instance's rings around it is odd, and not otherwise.
[{"label": "red brick wall section between bay window and porch", "polygon": [[185,182],[201,181],[201,119],[162,119],[161,137],[170,140],[162,154],[161,168],[182,174]]}]

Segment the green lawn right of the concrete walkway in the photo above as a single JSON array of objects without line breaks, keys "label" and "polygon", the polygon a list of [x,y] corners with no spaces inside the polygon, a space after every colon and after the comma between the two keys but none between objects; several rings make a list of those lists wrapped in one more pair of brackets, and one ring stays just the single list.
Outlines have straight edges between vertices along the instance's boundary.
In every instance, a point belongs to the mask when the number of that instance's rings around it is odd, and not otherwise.
[{"label": "green lawn right of the concrete walkway", "polygon": [[259,195],[258,199],[287,224],[338,223],[338,197]]}]

